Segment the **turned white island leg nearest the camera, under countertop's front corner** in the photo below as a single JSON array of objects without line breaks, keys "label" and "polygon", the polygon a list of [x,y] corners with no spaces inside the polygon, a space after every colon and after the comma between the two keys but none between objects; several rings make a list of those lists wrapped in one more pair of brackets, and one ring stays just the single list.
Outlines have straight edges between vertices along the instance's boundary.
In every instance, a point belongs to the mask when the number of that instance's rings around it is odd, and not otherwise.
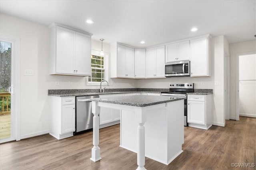
[{"label": "turned white island leg nearest the camera, under countertop's front corner", "polygon": [[137,164],[136,170],[146,170],[145,165],[145,127],[146,122],[146,109],[144,107],[138,107],[135,110],[137,127]]}]

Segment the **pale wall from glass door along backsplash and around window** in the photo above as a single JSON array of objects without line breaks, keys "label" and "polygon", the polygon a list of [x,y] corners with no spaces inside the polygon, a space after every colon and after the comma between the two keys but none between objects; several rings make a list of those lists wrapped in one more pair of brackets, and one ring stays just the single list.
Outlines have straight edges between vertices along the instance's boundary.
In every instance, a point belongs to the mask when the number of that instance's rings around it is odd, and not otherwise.
[{"label": "pale wall from glass door along backsplash and around window", "polygon": [[[0,14],[0,34],[20,37],[21,57],[21,138],[48,133],[48,89],[86,89],[99,88],[87,86],[82,76],[49,75],[49,29],[30,21]],[[100,41],[92,41],[92,49],[101,50]],[[103,44],[104,51],[110,51],[108,44]],[[34,76],[24,76],[24,70],[34,70]],[[60,85],[55,86],[55,81]],[[68,82],[72,86],[68,86]],[[107,88],[134,88],[136,80],[112,79],[112,86]]]}]

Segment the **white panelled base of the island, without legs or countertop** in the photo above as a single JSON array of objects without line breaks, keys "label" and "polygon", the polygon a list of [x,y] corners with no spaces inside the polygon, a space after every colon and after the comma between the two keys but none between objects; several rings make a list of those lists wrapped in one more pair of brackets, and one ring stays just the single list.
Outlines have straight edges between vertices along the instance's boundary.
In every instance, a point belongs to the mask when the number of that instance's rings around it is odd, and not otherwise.
[{"label": "white panelled base of the island, without legs or countertop", "polygon": [[[184,100],[148,106],[145,127],[145,156],[170,164],[183,152]],[[122,110],[120,147],[137,153],[137,123],[134,111]]]}]

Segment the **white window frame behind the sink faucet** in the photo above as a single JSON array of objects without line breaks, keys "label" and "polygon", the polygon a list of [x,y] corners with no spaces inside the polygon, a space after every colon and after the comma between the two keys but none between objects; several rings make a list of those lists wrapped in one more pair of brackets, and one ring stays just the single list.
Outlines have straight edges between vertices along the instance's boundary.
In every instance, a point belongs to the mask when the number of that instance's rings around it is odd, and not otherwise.
[{"label": "white window frame behind the sink faucet", "polygon": [[[104,57],[104,70],[105,70],[105,79],[109,82],[109,53],[104,52],[104,55],[100,55],[100,51],[98,50],[92,50],[91,55]],[[92,76],[92,63],[91,66],[91,76]],[[86,85],[92,85],[92,86],[100,86],[100,82],[89,82],[88,81],[89,76],[86,77]],[[102,82],[102,85],[107,85],[106,82]]]}]

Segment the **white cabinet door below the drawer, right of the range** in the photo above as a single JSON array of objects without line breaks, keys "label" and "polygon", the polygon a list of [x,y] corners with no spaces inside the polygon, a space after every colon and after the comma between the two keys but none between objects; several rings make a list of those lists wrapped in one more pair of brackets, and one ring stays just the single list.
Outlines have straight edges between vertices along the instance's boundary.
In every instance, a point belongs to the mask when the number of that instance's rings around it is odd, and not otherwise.
[{"label": "white cabinet door below the drawer, right of the range", "polygon": [[205,102],[188,101],[188,123],[205,125]]}]

